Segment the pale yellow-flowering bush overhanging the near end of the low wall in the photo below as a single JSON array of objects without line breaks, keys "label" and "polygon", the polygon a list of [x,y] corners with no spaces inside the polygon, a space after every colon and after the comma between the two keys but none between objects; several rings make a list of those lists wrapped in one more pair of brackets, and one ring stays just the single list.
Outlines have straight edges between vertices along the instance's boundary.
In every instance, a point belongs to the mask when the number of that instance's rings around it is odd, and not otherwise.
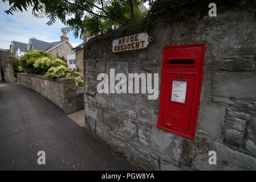
[{"label": "pale yellow-flowering bush overhanging the near end of the low wall", "polygon": [[76,71],[76,68],[68,68],[63,65],[52,67],[46,72],[46,78],[54,80],[56,78],[75,78],[76,85],[83,86],[83,75]]}]

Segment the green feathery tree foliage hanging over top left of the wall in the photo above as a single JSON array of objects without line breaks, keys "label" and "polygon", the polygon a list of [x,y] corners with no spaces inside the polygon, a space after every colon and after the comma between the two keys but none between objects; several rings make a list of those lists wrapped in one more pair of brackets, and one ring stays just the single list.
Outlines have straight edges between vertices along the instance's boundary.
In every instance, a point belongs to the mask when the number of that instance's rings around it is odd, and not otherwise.
[{"label": "green feathery tree foliage hanging over top left of the wall", "polygon": [[[5,13],[27,11],[32,6],[36,18],[48,18],[48,26],[60,20],[64,24],[61,31],[74,32],[77,38],[82,32],[96,36],[144,18],[145,12],[139,8],[148,0],[2,0],[8,2],[10,9]],[[39,3],[44,3],[45,11],[40,12]]]}]

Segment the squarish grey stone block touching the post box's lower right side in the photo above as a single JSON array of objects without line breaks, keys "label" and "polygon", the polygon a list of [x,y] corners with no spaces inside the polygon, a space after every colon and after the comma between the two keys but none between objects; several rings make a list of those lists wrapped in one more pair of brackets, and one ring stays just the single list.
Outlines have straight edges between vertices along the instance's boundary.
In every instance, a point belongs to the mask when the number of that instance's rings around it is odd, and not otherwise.
[{"label": "squarish grey stone block touching the post box's lower right side", "polygon": [[221,126],[224,122],[226,107],[220,104],[206,102],[201,104],[198,133],[221,137]]}]

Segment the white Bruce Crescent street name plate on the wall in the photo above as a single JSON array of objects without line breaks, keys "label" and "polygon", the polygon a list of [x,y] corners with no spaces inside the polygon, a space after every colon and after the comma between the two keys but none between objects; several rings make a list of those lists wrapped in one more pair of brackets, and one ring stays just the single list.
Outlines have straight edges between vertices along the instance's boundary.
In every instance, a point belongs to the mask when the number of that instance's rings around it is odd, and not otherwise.
[{"label": "white Bruce Crescent street name plate on the wall", "polygon": [[112,41],[112,51],[131,51],[135,49],[147,48],[148,44],[153,41],[153,37],[147,32],[125,36],[123,38],[114,39]]}]

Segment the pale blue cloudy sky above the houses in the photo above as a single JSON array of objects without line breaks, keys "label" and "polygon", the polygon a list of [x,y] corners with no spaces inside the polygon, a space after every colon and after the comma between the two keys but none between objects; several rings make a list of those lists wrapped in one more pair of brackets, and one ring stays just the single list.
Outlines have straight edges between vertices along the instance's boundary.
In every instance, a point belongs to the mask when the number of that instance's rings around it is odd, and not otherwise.
[{"label": "pale blue cloudy sky above the houses", "polygon": [[[4,13],[8,9],[9,2],[0,1],[0,48],[9,49],[12,40],[28,43],[29,38],[33,37],[46,42],[60,40],[60,28],[64,27],[60,21],[47,26],[48,19],[35,18],[32,15],[32,7],[23,13],[14,12],[14,15]],[[83,42],[79,38],[75,39],[73,32],[68,32],[67,36],[73,47]]]}]

